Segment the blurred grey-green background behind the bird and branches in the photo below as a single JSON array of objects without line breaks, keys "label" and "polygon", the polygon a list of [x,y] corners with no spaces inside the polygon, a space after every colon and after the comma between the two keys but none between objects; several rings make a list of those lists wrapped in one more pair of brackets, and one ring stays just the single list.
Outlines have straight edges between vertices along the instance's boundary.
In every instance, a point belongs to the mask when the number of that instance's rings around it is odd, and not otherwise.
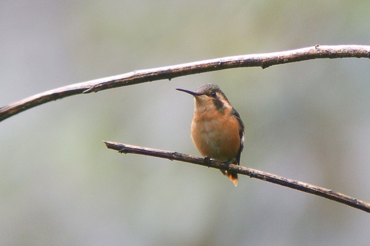
[{"label": "blurred grey-green background behind the bird and branches", "polygon": [[[1,1],[0,106],[138,69],[370,39],[369,1]],[[370,201],[369,59],[203,73],[53,101],[0,122],[1,245],[367,245],[370,215],[218,170],[118,154],[199,155],[195,90],[246,125],[243,166]]]}]

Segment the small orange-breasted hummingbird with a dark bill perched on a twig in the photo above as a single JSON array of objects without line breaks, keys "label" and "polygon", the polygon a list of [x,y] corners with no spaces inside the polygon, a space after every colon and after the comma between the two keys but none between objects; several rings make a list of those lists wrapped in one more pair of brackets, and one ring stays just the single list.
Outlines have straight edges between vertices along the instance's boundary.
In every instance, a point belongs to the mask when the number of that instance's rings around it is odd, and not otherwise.
[{"label": "small orange-breasted hummingbird with a dark bill perched on a twig", "polygon": [[[240,163],[244,143],[244,124],[238,111],[216,84],[204,84],[196,91],[176,89],[194,96],[195,107],[191,137],[205,158],[229,164]],[[238,185],[238,174],[221,170]]]}]

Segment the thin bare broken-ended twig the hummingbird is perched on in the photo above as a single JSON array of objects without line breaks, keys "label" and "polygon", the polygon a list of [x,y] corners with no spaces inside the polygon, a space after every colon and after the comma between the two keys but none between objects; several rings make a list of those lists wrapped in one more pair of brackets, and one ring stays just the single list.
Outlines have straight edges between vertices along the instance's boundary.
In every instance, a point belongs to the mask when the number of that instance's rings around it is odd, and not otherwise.
[{"label": "thin bare broken-ended twig the hummingbird is perched on", "polygon": [[[134,145],[127,145],[122,143],[115,143],[115,142],[105,142],[105,145],[108,149],[118,150],[120,153],[133,153],[139,155],[147,155],[147,156],[155,156],[160,158],[165,158],[169,160],[178,160],[181,162],[188,162],[193,164],[198,164],[201,166],[212,167],[216,169],[223,169],[225,170],[225,165],[222,162],[216,162],[214,160],[210,160],[209,162],[204,162],[203,158],[185,155],[177,152],[169,152],[164,150],[158,149],[150,149],[150,148],[143,148]],[[237,166],[230,164],[229,169],[235,173],[247,175],[251,178],[256,178],[264,181],[268,181],[270,183],[279,184],[281,186],[289,187],[295,190],[303,191],[309,194],[318,195],[320,197],[327,198],[329,200],[337,201],[343,204],[346,204],[350,207],[360,209],[362,211],[370,213],[370,203],[357,200],[356,198],[349,197],[342,193],[328,190],[323,187],[314,186],[312,184],[303,183],[301,181],[286,179],[281,176],[277,176],[275,174],[266,173],[263,171],[259,171],[256,169],[251,169],[247,167]]]}]

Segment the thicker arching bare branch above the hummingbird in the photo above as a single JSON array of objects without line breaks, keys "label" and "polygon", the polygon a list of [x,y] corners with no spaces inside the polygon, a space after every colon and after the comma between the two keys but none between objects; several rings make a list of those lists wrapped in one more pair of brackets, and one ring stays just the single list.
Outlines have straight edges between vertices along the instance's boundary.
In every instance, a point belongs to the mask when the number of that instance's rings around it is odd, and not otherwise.
[{"label": "thicker arching bare branch above the hummingbird", "polygon": [[90,80],[83,83],[71,84],[57,89],[45,91],[24,98],[0,108],[0,121],[22,111],[60,98],[76,94],[97,92],[115,87],[128,86],[154,80],[162,80],[229,69],[235,67],[262,67],[299,62],[318,58],[370,58],[370,46],[365,45],[316,45],[312,47],[265,54],[229,56],[212,60],[185,63],[181,65],[138,70],[122,75]]}]

